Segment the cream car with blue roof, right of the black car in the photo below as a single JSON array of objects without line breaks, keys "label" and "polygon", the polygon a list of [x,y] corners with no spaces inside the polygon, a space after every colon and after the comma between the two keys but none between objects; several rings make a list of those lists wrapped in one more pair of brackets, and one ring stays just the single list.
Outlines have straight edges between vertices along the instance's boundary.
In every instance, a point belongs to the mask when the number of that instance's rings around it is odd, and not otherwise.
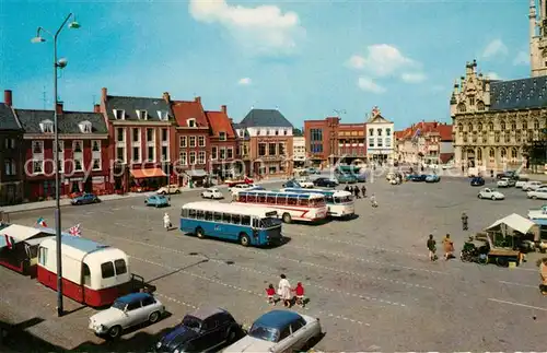
[{"label": "cream car with blue roof, right of the black car", "polygon": [[319,319],[291,310],[271,310],[224,352],[298,352],[321,334]]}]

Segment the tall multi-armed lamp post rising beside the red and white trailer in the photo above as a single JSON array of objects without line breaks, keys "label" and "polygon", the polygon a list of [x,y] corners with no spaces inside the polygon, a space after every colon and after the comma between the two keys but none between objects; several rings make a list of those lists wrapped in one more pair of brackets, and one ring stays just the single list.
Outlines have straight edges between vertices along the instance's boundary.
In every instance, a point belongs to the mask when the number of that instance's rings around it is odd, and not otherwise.
[{"label": "tall multi-armed lamp post rising beside the red and white trailer", "polygon": [[60,208],[60,178],[59,178],[59,129],[57,116],[57,70],[67,66],[66,59],[57,58],[57,38],[65,28],[65,25],[72,19],[69,28],[80,28],[80,24],[75,21],[72,13],[65,19],[59,30],[51,34],[51,32],[38,27],[36,37],[32,38],[32,43],[44,43],[46,39],[43,34],[49,35],[54,40],[54,132],[55,132],[55,148],[54,148],[54,162],[55,162],[55,237],[57,240],[57,315],[60,317],[63,314],[62,309],[62,264],[61,264],[61,208]]}]

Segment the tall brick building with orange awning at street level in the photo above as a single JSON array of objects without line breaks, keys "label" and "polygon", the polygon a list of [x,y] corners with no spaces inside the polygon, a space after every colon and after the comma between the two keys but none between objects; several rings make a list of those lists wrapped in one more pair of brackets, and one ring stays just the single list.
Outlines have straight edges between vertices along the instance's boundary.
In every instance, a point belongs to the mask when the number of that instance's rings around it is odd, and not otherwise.
[{"label": "tall brick building with orange awning at street level", "polygon": [[168,93],[162,98],[108,95],[97,109],[108,126],[113,184],[117,192],[154,190],[173,175],[174,116]]}]

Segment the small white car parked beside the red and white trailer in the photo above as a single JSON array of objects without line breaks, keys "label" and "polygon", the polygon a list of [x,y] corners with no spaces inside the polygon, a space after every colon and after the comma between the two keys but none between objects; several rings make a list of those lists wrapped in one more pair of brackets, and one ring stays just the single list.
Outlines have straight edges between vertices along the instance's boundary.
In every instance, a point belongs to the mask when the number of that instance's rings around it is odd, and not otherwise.
[{"label": "small white car parked beside the red and white trailer", "polygon": [[89,328],[100,337],[116,339],[125,329],[149,321],[158,322],[165,306],[149,293],[121,296],[106,310],[90,318]]}]

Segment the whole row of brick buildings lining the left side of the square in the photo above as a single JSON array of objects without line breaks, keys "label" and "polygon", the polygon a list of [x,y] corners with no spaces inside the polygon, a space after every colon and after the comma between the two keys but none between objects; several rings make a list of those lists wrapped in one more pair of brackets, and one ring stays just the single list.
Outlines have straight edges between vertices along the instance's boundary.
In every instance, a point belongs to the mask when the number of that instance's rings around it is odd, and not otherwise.
[{"label": "whole row of brick buildings lining the left side of the square", "polygon": [[[62,103],[56,109],[61,195],[128,192],[167,183],[185,186],[211,174],[242,172],[245,166],[251,174],[251,156],[277,163],[268,170],[257,169],[261,174],[292,168],[279,166],[289,163],[292,125],[277,110],[253,109],[234,125],[225,105],[205,110],[200,97],[174,101],[168,93],[158,98],[117,96],[107,89],[102,90],[93,111],[67,111]],[[18,109],[12,92],[4,91],[0,103],[0,204],[55,196],[54,116],[54,110]],[[272,125],[290,132],[278,136]],[[256,137],[256,131],[261,126],[272,129],[267,138],[276,143],[274,154],[258,151],[264,138]]]}]

